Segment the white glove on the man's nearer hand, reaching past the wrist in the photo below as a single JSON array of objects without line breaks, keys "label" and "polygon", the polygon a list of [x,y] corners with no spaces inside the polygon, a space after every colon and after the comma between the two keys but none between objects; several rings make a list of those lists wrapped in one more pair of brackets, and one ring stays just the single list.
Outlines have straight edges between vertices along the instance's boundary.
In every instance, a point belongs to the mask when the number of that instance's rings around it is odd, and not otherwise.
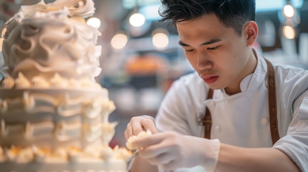
[{"label": "white glove on the man's nearer hand, reaching past the wrist", "polygon": [[212,172],[217,164],[219,140],[184,136],[175,132],[161,132],[134,141],[133,146],[143,147],[139,156],[152,165],[162,165],[166,171],[202,166]]}]

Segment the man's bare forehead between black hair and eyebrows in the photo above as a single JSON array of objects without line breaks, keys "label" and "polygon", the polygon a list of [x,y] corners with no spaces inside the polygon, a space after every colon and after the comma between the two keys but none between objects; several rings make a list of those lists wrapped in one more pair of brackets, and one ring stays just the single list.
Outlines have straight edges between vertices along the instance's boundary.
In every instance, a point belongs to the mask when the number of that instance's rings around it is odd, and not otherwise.
[{"label": "man's bare forehead between black hair and eyebrows", "polygon": [[198,38],[220,38],[236,34],[234,29],[223,25],[216,15],[204,15],[192,21],[183,21],[176,24],[180,40]]}]

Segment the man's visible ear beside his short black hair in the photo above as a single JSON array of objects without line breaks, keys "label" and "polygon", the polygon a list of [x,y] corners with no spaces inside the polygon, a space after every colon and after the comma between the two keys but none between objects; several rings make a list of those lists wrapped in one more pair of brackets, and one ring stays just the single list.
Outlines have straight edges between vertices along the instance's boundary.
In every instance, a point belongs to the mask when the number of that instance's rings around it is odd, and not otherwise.
[{"label": "man's visible ear beside his short black hair", "polygon": [[247,47],[252,46],[258,36],[258,25],[254,21],[247,22],[243,33],[246,38]]}]

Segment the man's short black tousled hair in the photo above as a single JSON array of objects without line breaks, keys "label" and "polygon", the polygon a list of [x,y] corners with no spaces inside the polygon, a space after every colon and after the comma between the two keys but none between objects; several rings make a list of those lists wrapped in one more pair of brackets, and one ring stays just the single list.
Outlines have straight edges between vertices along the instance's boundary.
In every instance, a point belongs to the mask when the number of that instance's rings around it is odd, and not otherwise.
[{"label": "man's short black tousled hair", "polygon": [[177,22],[198,19],[215,14],[226,27],[232,27],[241,35],[242,27],[255,20],[255,0],[161,0],[159,22]]}]

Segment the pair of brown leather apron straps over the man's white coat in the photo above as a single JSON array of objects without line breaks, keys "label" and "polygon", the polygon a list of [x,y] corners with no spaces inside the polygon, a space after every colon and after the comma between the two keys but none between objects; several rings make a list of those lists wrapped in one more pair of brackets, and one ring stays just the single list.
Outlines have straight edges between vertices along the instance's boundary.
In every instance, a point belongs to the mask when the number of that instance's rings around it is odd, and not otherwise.
[{"label": "pair of brown leather apron straps over the man's white coat", "polygon": [[[277,103],[276,103],[276,84],[275,84],[275,72],[271,62],[265,59],[267,63],[267,74],[268,74],[268,101],[269,101],[269,116],[270,116],[270,128],[271,128],[271,136],[273,145],[279,140],[279,132],[278,132],[278,122],[277,122]],[[213,90],[210,89],[208,93],[209,98],[213,98]],[[206,108],[205,116],[203,117],[202,123],[205,127],[204,138],[211,138],[211,113],[208,108]]]}]

